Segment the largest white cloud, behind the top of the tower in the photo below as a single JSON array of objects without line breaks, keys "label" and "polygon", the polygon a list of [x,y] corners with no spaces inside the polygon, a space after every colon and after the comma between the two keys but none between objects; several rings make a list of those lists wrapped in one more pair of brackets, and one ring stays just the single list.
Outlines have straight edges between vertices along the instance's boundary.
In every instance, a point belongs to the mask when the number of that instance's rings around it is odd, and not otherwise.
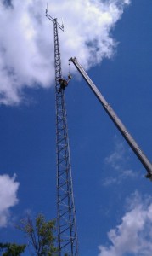
[{"label": "largest white cloud, behind the top of the tower", "polygon": [[[25,86],[53,84],[53,24],[41,0],[0,3],[0,103],[19,103]],[[121,18],[128,0],[49,0],[48,12],[65,20],[60,32],[64,73],[68,59],[76,56],[86,68],[114,54],[111,30]],[[74,69],[74,68],[73,68]]]}]

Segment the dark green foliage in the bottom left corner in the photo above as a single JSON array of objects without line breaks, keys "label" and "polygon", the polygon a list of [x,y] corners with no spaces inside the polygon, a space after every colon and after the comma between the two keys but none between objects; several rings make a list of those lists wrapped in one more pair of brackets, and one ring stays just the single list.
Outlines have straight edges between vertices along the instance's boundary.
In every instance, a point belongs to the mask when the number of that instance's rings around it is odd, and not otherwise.
[{"label": "dark green foliage in the bottom left corner", "polygon": [[15,243],[0,243],[0,255],[3,256],[20,256],[25,251],[25,245]]}]

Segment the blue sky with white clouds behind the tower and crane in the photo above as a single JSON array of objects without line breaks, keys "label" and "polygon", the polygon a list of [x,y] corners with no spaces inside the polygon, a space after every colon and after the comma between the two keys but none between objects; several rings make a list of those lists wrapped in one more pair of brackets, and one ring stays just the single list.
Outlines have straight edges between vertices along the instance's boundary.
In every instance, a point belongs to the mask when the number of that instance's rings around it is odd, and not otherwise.
[{"label": "blue sky with white clouds behind the tower and crane", "polygon": [[[57,13],[58,17],[68,12],[71,3],[64,1],[59,10],[58,3],[52,2],[53,6],[48,2],[48,12]],[[14,229],[14,224],[26,212],[33,216],[42,212],[48,219],[56,217],[53,24],[45,18],[43,4],[38,7],[33,4],[33,9],[32,1],[27,1],[32,15],[41,17],[39,26],[44,29],[39,32],[36,20],[30,20],[31,16],[27,15],[27,6],[17,0],[12,3],[13,11],[0,5],[5,14],[0,30],[3,36],[0,43],[0,237],[1,241],[24,242],[24,236]],[[119,1],[111,3],[119,9]],[[121,3],[121,10],[115,15],[112,7],[106,7],[112,17],[110,21],[96,17],[97,32],[94,31],[93,38],[90,32],[94,26],[88,32],[86,26],[89,9],[82,1],[77,1],[75,9],[77,27],[74,27],[76,20],[71,22],[72,29],[68,24],[68,18],[72,20],[70,11],[64,16],[65,36],[60,32],[63,72],[68,73],[67,60],[76,55],[152,160],[152,3],[150,0]],[[81,4],[86,20],[82,14],[77,15]],[[99,15],[102,12],[103,7]],[[18,26],[21,15],[25,15],[22,31]],[[8,17],[13,19],[11,24]],[[109,42],[109,49],[100,44],[102,24],[107,29],[103,37]],[[9,35],[13,38],[11,44]],[[17,43],[15,35],[19,39]],[[31,40],[34,37],[39,39],[37,44]],[[87,49],[87,40],[93,44],[95,39],[96,49],[101,47],[104,52],[97,54]],[[65,90],[65,98],[80,255],[149,256],[152,183],[144,177],[144,167],[72,64],[70,71],[73,79]]]}]

